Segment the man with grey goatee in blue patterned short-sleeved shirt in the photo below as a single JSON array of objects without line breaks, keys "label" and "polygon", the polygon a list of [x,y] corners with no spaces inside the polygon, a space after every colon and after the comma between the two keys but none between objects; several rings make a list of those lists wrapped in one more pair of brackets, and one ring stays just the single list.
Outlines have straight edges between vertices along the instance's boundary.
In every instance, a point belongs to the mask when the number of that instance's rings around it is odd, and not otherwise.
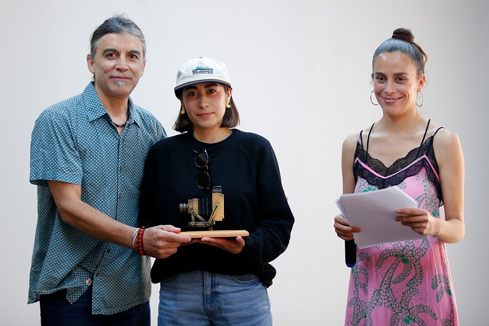
[{"label": "man with grey goatee in blue patterned short-sleeved shirt", "polygon": [[42,325],[150,325],[148,256],[166,258],[190,238],[171,225],[137,228],[139,185],[149,148],[166,132],[129,97],[146,64],[130,19],[92,34],[93,81],[45,109],[31,142],[30,182],[38,224],[29,303]]}]

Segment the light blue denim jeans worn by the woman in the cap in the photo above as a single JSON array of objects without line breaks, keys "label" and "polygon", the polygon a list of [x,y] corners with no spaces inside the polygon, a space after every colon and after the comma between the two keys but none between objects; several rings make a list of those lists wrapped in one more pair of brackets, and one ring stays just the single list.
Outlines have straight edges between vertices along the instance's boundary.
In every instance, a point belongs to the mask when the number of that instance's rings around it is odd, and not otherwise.
[{"label": "light blue denim jeans worn by the woman in the cap", "polygon": [[160,284],[158,326],[169,325],[272,325],[267,288],[254,274],[178,274]]}]

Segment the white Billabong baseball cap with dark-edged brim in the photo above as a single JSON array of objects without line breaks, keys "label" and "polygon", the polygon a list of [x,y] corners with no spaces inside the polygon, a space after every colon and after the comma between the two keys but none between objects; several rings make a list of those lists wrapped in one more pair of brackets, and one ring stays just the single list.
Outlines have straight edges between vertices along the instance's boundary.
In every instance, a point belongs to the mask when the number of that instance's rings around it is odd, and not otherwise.
[{"label": "white Billabong baseball cap with dark-edged brim", "polygon": [[175,93],[183,87],[204,82],[218,82],[231,87],[231,79],[222,62],[213,58],[199,57],[187,61],[180,67]]}]

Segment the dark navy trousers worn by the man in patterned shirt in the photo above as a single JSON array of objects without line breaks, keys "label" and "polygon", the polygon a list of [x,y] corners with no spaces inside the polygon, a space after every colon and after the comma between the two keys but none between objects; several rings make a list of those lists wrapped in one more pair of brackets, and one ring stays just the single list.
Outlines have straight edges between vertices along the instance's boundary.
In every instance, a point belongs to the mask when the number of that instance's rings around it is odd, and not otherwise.
[{"label": "dark navy trousers worn by the man in patterned shirt", "polygon": [[42,326],[150,326],[150,304],[146,302],[113,315],[92,315],[92,286],[77,301],[66,300],[66,289],[41,295]]}]

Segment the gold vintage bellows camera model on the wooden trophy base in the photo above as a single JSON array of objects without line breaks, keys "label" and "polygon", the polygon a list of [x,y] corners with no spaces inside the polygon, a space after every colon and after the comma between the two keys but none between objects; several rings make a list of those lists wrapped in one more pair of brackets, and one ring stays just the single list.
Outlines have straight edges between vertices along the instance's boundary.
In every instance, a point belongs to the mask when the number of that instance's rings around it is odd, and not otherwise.
[{"label": "gold vintage bellows camera model on the wooden trophy base", "polygon": [[[187,212],[192,217],[189,226],[207,227],[207,230],[212,231],[216,221],[222,221],[224,218],[224,194],[221,186],[212,189],[212,198],[193,198],[189,199],[187,204],[180,204],[180,212]],[[209,219],[206,220],[202,216],[208,216]]]}]

